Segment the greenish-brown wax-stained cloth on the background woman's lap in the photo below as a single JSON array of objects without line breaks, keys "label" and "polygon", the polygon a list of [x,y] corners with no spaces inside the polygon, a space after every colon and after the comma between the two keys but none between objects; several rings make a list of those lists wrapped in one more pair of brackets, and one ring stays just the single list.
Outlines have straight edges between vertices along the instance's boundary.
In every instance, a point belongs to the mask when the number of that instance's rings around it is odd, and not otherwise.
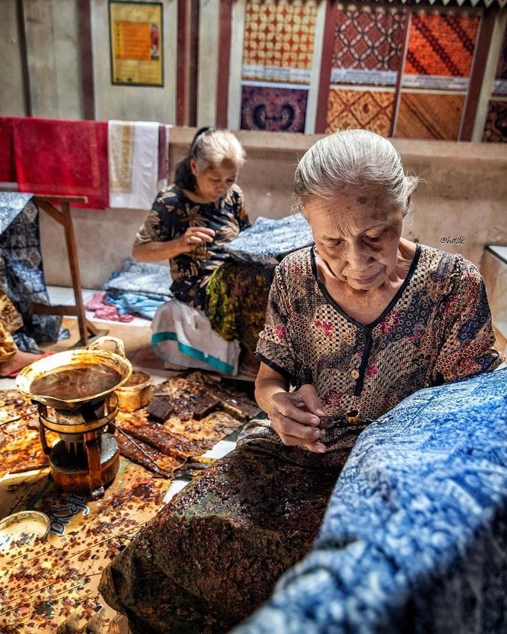
[{"label": "greenish-brown wax-stained cloth on the background woman's lap", "polygon": [[226,341],[238,340],[256,351],[264,328],[273,265],[226,262],[216,269],[206,287],[206,315]]}]

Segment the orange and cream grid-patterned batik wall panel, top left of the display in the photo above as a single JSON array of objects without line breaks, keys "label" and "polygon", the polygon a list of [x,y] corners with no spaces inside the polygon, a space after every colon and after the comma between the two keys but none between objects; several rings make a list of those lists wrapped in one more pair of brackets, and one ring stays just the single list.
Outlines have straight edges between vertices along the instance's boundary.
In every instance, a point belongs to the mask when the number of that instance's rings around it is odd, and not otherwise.
[{"label": "orange and cream grid-patterned batik wall panel, top left of the display", "polygon": [[309,83],[316,5],[247,2],[242,79]]}]

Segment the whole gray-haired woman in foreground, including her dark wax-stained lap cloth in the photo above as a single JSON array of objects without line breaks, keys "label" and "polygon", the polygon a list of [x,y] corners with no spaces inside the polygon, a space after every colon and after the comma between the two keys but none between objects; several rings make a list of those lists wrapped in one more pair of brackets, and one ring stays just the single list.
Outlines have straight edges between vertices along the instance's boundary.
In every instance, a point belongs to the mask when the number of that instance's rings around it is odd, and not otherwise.
[{"label": "whole gray-haired woman in foreground, including her dark wax-stained lap cloth", "polygon": [[103,595],[134,631],[228,631],[307,553],[369,420],[501,363],[477,269],[401,237],[415,185],[371,132],[303,156],[296,197],[315,245],[284,258],[271,287],[256,380],[267,419],[105,571]]}]

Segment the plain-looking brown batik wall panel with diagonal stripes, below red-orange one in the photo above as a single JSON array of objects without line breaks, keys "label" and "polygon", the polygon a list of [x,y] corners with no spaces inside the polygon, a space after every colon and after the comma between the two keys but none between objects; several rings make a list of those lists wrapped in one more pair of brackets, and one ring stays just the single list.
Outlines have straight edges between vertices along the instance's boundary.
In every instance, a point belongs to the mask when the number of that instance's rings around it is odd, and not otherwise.
[{"label": "plain-looking brown batik wall panel with diagonal stripes, below red-orange one", "polygon": [[464,94],[404,92],[395,136],[456,141],[464,102]]}]

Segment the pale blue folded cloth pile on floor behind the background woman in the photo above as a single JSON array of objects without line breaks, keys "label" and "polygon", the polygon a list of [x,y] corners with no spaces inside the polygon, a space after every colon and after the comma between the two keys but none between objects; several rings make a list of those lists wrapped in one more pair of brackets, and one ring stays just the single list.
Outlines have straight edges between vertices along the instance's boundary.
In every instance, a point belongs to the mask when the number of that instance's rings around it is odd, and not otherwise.
[{"label": "pale blue folded cloth pile on floor behind the background woman", "polygon": [[158,307],[172,298],[172,278],[167,266],[124,260],[103,285],[107,302],[118,312],[153,319]]}]

